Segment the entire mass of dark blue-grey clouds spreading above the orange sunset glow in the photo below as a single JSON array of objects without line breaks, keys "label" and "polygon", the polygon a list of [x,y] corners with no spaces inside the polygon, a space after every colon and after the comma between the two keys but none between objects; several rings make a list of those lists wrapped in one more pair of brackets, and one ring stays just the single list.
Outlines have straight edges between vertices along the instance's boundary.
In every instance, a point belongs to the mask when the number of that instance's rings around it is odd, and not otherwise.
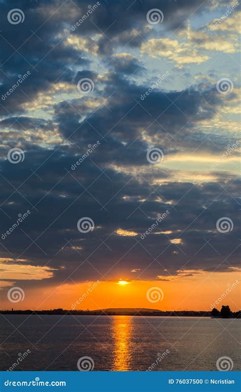
[{"label": "entire mass of dark blue-grey clouds spreading above the orange sunset glow", "polygon": [[[149,36],[150,29],[145,27],[149,9],[163,11],[164,21],[155,27],[154,34],[165,36],[169,28],[184,27],[201,0],[103,3],[73,32],[71,25],[88,9],[87,2],[75,3],[11,2],[11,8],[20,8],[25,14],[24,23],[16,25],[7,21],[9,4],[1,5],[0,95],[9,91],[19,75],[31,71],[0,105],[2,257],[26,258],[29,264],[40,266],[48,263],[56,268],[52,284],[63,282],[70,274],[77,282],[100,279],[98,271],[106,279],[122,273],[129,278],[141,273],[141,279],[155,279],[157,275],[168,276],[165,269],[175,273],[187,262],[188,269],[227,271],[226,257],[236,266],[237,180],[227,173],[216,173],[218,183],[173,182],[170,171],[160,167],[150,171],[152,165],[146,160],[148,138],[157,141],[165,156],[188,154],[198,146],[199,152],[223,148],[232,136],[217,136],[216,147],[198,127],[200,120],[213,119],[216,106],[225,103],[212,86],[183,91],[158,88],[142,100],[150,85],[131,81],[131,75],[145,72],[144,67],[136,58],[111,57],[118,45],[137,48]],[[97,53],[106,56],[105,66],[109,63],[103,75],[93,66],[92,55],[77,43],[67,45],[65,39],[65,34],[70,39],[79,37],[81,45],[81,39],[92,40],[100,30],[105,35],[96,41]],[[86,77],[95,83],[92,95],[59,98],[61,102],[54,97],[50,121],[24,113],[23,104],[31,103],[54,83],[69,83],[76,90],[77,81]],[[47,149],[45,128],[63,138],[63,144],[53,142],[56,145]],[[100,144],[95,151],[83,159],[89,145],[97,141]],[[24,160],[18,164],[6,159],[15,146],[24,150]],[[81,164],[73,170],[80,158]],[[27,210],[31,214],[11,235],[5,235],[18,214]],[[157,214],[166,210],[170,213],[141,240]],[[95,229],[86,234],[77,229],[84,216],[95,222]],[[228,216],[234,225],[226,242],[216,229],[222,216]],[[118,229],[137,236],[120,236],[115,232]],[[171,243],[175,239],[180,241]],[[136,274],[131,269],[140,271]],[[25,284],[33,283],[22,282]]]}]

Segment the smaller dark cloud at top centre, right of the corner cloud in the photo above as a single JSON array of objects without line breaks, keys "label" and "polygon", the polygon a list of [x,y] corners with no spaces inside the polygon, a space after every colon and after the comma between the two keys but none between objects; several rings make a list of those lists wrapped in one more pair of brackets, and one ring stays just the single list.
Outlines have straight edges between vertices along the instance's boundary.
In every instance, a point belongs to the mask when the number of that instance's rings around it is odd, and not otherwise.
[{"label": "smaller dark cloud at top centre, right of the corner cloud", "polygon": [[[86,13],[88,2],[76,1],[76,4],[81,7],[83,13]],[[118,0],[114,3],[101,3],[101,6],[91,15],[91,23],[81,24],[74,31],[74,35],[89,34],[96,32],[98,26],[99,32],[105,32],[104,37],[101,37],[98,45],[101,54],[108,54],[113,52],[116,45],[133,47],[140,46],[143,39],[146,39],[149,30],[143,26],[148,25],[146,21],[146,14],[151,9],[160,9],[164,14],[163,26],[164,30],[182,29],[187,22],[187,15],[194,11],[199,12],[205,4],[201,0],[185,0],[177,4],[171,4],[165,0],[148,0],[147,2],[132,2]],[[207,2],[207,6],[212,5]],[[82,16],[82,15],[81,15]],[[77,16],[76,16],[76,20]],[[135,30],[134,30],[135,29]],[[139,34],[138,34],[139,32]]]}]

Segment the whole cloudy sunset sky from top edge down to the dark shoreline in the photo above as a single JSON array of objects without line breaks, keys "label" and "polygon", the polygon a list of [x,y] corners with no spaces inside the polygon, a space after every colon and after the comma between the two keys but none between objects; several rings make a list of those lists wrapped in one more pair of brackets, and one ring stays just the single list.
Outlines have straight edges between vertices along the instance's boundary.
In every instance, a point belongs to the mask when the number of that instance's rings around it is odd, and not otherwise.
[{"label": "whole cloudy sunset sky from top edge down to the dark shoreline", "polygon": [[0,13],[1,308],[239,310],[239,3]]}]

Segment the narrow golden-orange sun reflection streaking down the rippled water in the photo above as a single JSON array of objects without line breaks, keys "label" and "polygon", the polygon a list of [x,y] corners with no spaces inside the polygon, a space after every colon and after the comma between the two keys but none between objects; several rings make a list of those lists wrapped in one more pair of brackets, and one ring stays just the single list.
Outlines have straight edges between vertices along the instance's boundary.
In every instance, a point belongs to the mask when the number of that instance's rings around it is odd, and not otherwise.
[{"label": "narrow golden-orange sun reflection streaking down the rippled water", "polygon": [[133,319],[130,316],[115,316],[113,320],[114,371],[130,370],[131,350],[130,341],[133,331]]}]

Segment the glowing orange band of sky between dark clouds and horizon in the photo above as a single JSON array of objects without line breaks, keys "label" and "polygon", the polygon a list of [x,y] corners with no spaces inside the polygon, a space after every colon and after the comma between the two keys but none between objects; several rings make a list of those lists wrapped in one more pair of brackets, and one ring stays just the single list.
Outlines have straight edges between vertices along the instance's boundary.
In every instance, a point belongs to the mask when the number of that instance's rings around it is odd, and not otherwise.
[{"label": "glowing orange band of sky between dark clouds and horizon", "polygon": [[[210,311],[211,304],[226,293],[214,307],[220,310],[222,305],[228,304],[232,311],[238,311],[241,309],[239,278],[238,272],[233,271],[212,274],[202,272],[187,277],[175,276],[170,277],[170,281],[129,281],[126,285],[118,284],[117,279],[115,282],[68,283],[58,287],[48,286],[46,282],[45,288],[24,289],[23,301],[12,303],[6,295],[1,295],[1,308],[96,310],[146,307],[162,311]],[[18,284],[14,286],[18,287]],[[163,295],[159,297],[163,299],[156,300],[157,297],[153,297],[151,299],[155,301],[149,301],[147,291],[152,288],[160,288]]]}]

